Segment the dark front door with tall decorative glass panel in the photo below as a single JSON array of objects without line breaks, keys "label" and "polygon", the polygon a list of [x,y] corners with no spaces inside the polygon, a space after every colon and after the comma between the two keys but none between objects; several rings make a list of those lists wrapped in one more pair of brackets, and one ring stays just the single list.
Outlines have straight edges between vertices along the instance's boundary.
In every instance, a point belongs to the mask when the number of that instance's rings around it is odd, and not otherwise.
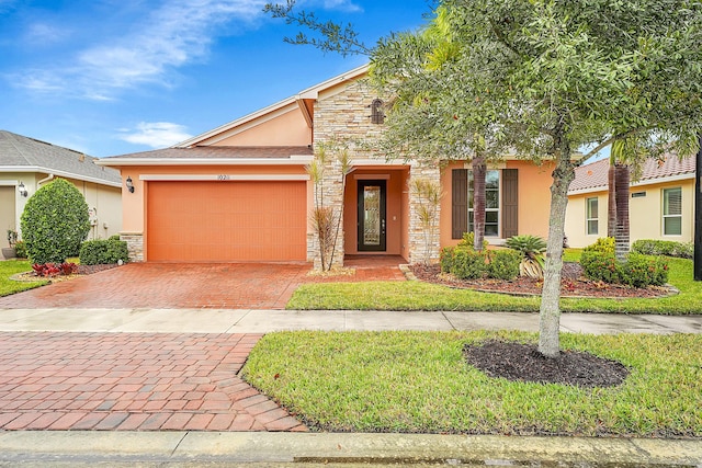
[{"label": "dark front door with tall decorative glass panel", "polygon": [[359,181],[359,252],[385,252],[385,181]]}]

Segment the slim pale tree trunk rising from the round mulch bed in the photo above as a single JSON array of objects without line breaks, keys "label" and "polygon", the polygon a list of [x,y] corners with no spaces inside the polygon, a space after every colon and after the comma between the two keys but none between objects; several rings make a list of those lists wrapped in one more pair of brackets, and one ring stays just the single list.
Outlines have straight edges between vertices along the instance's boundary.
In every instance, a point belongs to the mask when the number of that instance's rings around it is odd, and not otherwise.
[{"label": "slim pale tree trunk rising from the round mulch bed", "polygon": [[561,150],[553,171],[551,185],[551,215],[544,285],[541,294],[539,352],[546,357],[556,357],[561,352],[561,270],[563,269],[563,236],[568,205],[568,186],[575,179],[567,145]]}]

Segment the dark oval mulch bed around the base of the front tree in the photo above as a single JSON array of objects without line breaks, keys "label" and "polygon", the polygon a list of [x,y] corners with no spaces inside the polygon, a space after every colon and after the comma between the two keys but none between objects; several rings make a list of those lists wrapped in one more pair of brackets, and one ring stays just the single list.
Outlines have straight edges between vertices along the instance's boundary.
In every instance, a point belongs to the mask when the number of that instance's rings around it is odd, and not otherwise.
[{"label": "dark oval mulch bed around the base of the front tree", "polygon": [[512,381],[614,387],[629,375],[629,369],[615,361],[576,351],[562,351],[558,357],[551,358],[541,354],[535,344],[487,341],[466,344],[463,352],[469,365],[490,377]]}]

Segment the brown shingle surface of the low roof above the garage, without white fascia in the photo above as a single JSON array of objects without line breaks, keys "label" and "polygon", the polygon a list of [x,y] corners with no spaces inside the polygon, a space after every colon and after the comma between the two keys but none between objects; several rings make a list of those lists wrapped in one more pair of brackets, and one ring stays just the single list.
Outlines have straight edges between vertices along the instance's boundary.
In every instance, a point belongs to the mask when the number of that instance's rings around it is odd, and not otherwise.
[{"label": "brown shingle surface of the low roof above the garage, without white fascia", "polygon": [[[307,146],[196,146],[113,156],[120,159],[268,159],[312,155]],[[110,158],[103,158],[110,160]]]}]

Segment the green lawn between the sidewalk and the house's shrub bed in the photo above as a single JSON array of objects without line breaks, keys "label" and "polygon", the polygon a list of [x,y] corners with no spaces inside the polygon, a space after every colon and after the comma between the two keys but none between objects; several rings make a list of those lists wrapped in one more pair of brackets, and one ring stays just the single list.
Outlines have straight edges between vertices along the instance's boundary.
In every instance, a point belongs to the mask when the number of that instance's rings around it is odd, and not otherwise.
[{"label": "green lawn between the sidewalk and the house's shrub bed", "polygon": [[[568,250],[565,260],[579,259]],[[679,295],[646,299],[561,299],[564,312],[702,313],[702,283],[694,282],[692,261],[668,259],[668,282]],[[478,293],[423,282],[366,282],[306,284],[287,303],[291,310],[466,310],[537,312],[541,297]]]}]

